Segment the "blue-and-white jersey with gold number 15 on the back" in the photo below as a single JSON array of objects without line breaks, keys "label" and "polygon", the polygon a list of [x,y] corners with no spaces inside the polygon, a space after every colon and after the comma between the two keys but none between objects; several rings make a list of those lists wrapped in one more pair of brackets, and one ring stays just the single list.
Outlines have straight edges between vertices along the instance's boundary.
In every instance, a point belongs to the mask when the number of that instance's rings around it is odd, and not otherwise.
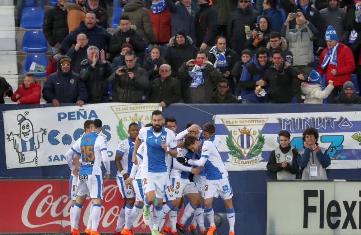
[{"label": "blue-and-white jersey with gold number 15 on the back", "polygon": [[108,156],[105,137],[96,132],[89,132],[81,137],[79,149],[82,159],[79,175],[101,175],[101,160],[103,158],[101,152],[105,151]]}]

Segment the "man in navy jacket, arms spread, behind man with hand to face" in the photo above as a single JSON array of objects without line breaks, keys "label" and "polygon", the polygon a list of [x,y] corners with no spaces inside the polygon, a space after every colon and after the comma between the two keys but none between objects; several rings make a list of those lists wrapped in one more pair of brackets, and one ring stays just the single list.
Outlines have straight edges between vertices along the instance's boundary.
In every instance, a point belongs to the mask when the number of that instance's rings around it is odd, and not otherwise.
[{"label": "man in navy jacket, arms spread, behind man with hand to face", "polygon": [[[77,44],[78,34],[83,33],[87,35],[89,45],[96,46],[99,50],[109,50],[110,35],[104,28],[99,25],[96,25],[96,16],[93,12],[87,12],[85,15],[85,20],[82,21],[78,28],[72,31],[65,39],[62,41],[62,48],[67,52],[71,45]],[[107,55],[107,58],[110,56]]]}]

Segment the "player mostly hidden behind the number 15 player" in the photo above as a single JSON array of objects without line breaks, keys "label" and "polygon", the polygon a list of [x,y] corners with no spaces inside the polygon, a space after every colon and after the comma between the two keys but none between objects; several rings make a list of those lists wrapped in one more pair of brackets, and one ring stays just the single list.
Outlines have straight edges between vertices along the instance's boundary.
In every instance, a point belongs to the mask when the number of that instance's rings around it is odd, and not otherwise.
[{"label": "player mostly hidden behind the number 15 player", "polygon": [[[84,122],[84,131],[85,134],[88,134],[91,130],[93,124],[93,120],[89,119],[86,120]],[[77,185],[78,185],[78,175],[79,175],[79,166],[76,167],[72,164],[73,162],[73,155],[74,158],[78,159],[78,161],[81,161],[80,159],[80,149],[78,149],[79,146],[79,142],[81,141],[82,138],[78,138],[77,141],[75,141],[74,145],[69,148],[69,150],[66,152],[65,154],[65,158],[66,161],[68,162],[68,165],[70,167],[71,170],[71,174],[70,174],[70,179],[69,179],[69,196],[68,198],[71,198],[72,202],[71,202],[71,207],[70,207],[70,228],[73,229],[73,227],[71,227],[71,225],[73,224],[73,208],[74,208],[74,204],[77,201],[77,195],[75,194],[75,190],[77,189]],[[75,177],[75,178],[74,178]],[[91,206],[92,209],[92,206]],[[88,220],[88,225],[89,223],[91,224],[91,216],[89,216],[89,220]],[[89,234],[91,233],[91,226],[90,229],[87,229],[84,231],[85,234]]]}]

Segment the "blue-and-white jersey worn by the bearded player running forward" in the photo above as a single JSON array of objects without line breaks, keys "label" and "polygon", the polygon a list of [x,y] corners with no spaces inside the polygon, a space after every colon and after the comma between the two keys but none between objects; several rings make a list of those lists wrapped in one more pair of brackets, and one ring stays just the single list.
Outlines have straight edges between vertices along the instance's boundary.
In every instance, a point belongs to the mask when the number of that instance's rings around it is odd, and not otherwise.
[{"label": "blue-and-white jersey worn by the bearded player running forward", "polygon": [[164,127],[159,133],[154,132],[153,127],[144,127],[138,138],[144,141],[142,172],[167,172],[168,153],[161,147],[161,142],[165,142],[169,149],[176,149],[175,134]]}]

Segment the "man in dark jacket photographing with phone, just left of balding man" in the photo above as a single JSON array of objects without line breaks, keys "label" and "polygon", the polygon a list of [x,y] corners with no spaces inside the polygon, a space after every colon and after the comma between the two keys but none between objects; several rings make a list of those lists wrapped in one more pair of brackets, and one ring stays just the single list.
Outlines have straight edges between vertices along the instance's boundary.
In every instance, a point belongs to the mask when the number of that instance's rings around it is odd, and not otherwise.
[{"label": "man in dark jacket photographing with phone, just left of balding man", "polygon": [[108,82],[114,86],[113,102],[122,103],[140,103],[144,90],[148,88],[148,73],[144,68],[136,65],[136,56],[134,52],[125,53],[126,66],[119,66],[116,71],[110,75]]}]

